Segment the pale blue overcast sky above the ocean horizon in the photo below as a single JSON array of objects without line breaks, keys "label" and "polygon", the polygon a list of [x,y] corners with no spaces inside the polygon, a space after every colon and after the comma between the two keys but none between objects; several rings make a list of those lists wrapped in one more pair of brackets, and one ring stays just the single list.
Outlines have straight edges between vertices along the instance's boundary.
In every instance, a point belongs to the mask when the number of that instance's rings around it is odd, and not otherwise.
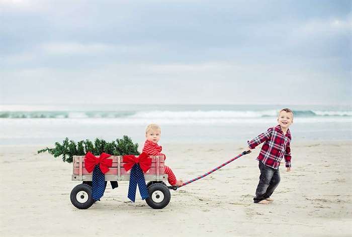
[{"label": "pale blue overcast sky above the ocean horizon", "polygon": [[350,1],[0,0],[0,103],[352,103]]}]

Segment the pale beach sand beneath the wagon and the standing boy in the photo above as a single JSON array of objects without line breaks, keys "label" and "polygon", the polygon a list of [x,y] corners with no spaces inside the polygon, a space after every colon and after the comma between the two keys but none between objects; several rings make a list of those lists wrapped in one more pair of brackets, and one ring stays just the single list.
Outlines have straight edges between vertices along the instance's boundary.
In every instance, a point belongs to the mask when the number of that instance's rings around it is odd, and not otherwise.
[{"label": "pale beach sand beneath the wagon and the standing boy", "polygon": [[[236,144],[163,145],[166,164],[184,181],[242,152]],[[128,182],[108,184],[100,202],[75,208],[72,164],[37,154],[45,146],[0,146],[0,236],[352,236],[352,142],[292,144],[292,171],[268,205],[254,204],[259,149],[150,208]],[[52,147],[52,146],[51,146]]]}]

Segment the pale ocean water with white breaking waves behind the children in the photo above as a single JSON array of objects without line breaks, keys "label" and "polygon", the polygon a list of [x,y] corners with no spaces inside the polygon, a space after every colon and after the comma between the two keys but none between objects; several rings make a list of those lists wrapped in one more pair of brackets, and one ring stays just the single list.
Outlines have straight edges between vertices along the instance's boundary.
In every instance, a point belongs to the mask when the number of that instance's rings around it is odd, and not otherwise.
[{"label": "pale ocean water with white breaking waves behind the children", "polygon": [[163,143],[243,143],[294,110],[293,141],[352,140],[350,105],[0,105],[0,145],[50,145],[66,137],[144,143],[145,127],[161,127]]}]

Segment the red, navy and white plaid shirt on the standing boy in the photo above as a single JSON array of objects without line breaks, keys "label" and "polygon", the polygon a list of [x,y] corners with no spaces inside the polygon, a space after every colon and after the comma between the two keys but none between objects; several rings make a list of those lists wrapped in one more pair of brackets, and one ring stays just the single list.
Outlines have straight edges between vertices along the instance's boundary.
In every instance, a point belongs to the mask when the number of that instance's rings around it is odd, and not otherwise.
[{"label": "red, navy and white plaid shirt on the standing boy", "polygon": [[290,142],[290,130],[287,130],[286,135],[284,135],[280,125],[278,125],[269,128],[265,133],[259,134],[248,143],[248,146],[250,149],[254,149],[259,144],[264,143],[256,160],[278,169],[282,158],[285,158],[286,167],[291,167]]}]

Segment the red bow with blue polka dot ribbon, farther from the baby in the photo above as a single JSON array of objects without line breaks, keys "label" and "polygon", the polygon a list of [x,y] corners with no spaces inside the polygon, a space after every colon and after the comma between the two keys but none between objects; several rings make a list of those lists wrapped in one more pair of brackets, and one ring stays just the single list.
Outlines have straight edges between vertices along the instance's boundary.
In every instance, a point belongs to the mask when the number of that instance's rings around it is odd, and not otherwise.
[{"label": "red bow with blue polka dot ribbon, farther from the baby", "polygon": [[106,159],[111,155],[102,153],[99,158],[95,157],[91,152],[85,155],[84,164],[88,172],[93,171],[92,178],[92,198],[99,200],[105,191],[105,173],[109,171],[109,167],[113,165],[112,159]]}]

